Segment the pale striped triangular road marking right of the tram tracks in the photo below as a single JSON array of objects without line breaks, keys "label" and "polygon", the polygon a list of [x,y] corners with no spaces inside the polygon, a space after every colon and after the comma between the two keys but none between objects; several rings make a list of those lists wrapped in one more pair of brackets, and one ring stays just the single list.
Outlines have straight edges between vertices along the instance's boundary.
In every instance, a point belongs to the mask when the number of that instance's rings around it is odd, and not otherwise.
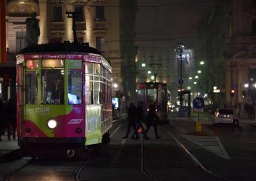
[{"label": "pale striped triangular road marking right of the tram tracks", "polygon": [[230,160],[229,154],[226,152],[218,137],[195,135],[184,135],[183,137],[191,140],[193,143],[201,146],[202,148],[205,148],[206,150],[218,155],[219,157]]}]

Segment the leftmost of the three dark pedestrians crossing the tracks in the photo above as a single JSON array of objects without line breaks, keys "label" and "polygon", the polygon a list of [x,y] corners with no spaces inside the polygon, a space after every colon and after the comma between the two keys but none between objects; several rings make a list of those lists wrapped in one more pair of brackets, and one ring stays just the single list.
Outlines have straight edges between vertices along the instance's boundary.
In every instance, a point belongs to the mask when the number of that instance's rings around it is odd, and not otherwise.
[{"label": "leftmost of the three dark pedestrians crossing the tracks", "polygon": [[134,129],[135,135],[136,137],[132,137],[137,139],[138,138],[138,132],[137,132],[137,128],[136,128],[136,106],[134,103],[129,103],[129,107],[127,108],[127,121],[128,121],[128,126],[127,126],[127,134],[125,134],[125,136],[123,137],[123,139],[127,139],[127,137],[129,136],[129,131],[131,129],[131,127]]}]

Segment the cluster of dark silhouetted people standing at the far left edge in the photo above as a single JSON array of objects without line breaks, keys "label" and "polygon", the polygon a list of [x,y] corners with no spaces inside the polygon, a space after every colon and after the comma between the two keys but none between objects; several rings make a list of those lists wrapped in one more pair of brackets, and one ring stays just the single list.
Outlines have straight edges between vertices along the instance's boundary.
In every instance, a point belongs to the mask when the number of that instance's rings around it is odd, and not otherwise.
[{"label": "cluster of dark silhouetted people standing at the far left edge", "polygon": [[5,104],[0,99],[0,141],[6,129],[8,140],[11,140],[11,136],[16,140],[16,106],[12,98]]}]

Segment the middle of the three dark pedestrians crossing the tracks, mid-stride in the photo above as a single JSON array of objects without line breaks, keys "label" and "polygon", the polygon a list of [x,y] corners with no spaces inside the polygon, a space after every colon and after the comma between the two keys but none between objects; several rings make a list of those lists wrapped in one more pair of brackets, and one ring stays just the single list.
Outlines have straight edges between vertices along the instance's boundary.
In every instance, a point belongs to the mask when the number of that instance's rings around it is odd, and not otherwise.
[{"label": "middle of the three dark pedestrians crossing the tracks, mid-stride", "polygon": [[[143,102],[141,100],[138,102],[138,106],[136,109],[136,115],[137,115],[136,128],[137,128],[137,130],[141,128],[141,132],[144,135],[144,139],[148,140],[149,137],[146,135],[144,126],[142,125],[142,122],[144,121],[145,116],[144,116],[144,110],[143,110]],[[134,137],[134,136],[135,136],[135,133],[133,133],[132,138],[138,139],[138,137]]]}]

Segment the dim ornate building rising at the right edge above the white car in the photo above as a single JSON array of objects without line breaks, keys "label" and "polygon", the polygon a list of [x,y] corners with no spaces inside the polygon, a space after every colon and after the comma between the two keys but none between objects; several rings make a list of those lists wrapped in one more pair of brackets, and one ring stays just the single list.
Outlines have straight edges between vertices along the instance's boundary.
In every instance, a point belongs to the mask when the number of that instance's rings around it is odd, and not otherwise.
[{"label": "dim ornate building rising at the right edge above the white car", "polygon": [[255,1],[215,1],[205,47],[209,89],[220,89],[213,95],[215,102],[229,106],[256,102]]}]

